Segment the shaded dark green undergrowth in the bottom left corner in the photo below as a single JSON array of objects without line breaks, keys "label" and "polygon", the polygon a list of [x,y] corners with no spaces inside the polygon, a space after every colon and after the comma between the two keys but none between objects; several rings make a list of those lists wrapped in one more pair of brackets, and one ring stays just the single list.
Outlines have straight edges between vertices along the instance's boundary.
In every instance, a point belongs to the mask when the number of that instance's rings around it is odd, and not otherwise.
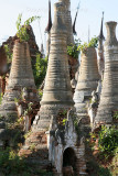
[{"label": "shaded dark green undergrowth in the bottom left corner", "polygon": [[[25,157],[21,157],[10,147],[0,150],[0,174],[3,176],[53,176],[53,173],[39,168],[39,165],[28,163]],[[32,145],[32,152],[34,146]],[[35,169],[34,169],[35,168]]]}]

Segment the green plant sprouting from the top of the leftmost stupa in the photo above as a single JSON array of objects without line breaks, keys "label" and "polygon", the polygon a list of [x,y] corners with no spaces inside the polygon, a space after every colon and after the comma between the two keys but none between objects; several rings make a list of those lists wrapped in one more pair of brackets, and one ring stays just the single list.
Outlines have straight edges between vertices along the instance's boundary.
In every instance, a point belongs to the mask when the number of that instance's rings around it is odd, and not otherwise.
[{"label": "green plant sprouting from the top of the leftmost stupa", "polygon": [[19,14],[18,21],[17,21],[17,36],[20,38],[20,42],[28,42],[29,41],[29,34],[26,32],[26,28],[35,20],[40,19],[40,16],[32,16],[29,18],[24,24],[21,24],[22,14]]}]

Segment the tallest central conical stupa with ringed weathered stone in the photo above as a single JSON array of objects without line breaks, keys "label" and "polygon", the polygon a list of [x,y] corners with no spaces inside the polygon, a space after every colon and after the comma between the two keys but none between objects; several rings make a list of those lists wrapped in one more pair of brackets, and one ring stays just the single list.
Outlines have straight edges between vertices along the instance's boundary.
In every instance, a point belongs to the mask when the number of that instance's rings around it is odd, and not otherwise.
[{"label": "tallest central conical stupa with ringed weathered stone", "polygon": [[41,109],[35,117],[34,129],[47,129],[53,114],[56,114],[60,109],[68,109],[73,107],[73,105],[66,51],[64,4],[57,2],[54,4],[54,23],[51,30],[51,51]]}]

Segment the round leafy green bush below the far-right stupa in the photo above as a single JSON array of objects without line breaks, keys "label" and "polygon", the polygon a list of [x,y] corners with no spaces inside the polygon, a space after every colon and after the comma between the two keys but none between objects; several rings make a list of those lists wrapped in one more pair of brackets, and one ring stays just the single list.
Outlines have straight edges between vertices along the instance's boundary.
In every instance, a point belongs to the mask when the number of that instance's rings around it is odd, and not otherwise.
[{"label": "round leafy green bush below the far-right stupa", "polygon": [[101,127],[98,134],[98,148],[106,158],[115,154],[118,147],[118,130],[115,127]]}]

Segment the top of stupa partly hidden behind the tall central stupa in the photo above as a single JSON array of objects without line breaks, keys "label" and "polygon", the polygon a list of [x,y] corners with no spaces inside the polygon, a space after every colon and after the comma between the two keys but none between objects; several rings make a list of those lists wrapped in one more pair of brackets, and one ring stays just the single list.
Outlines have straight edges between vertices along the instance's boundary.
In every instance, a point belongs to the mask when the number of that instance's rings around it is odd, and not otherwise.
[{"label": "top of stupa partly hidden behind the tall central stupa", "polygon": [[74,44],[73,25],[71,16],[71,0],[58,0],[65,6],[64,19],[67,29],[67,45]]}]

